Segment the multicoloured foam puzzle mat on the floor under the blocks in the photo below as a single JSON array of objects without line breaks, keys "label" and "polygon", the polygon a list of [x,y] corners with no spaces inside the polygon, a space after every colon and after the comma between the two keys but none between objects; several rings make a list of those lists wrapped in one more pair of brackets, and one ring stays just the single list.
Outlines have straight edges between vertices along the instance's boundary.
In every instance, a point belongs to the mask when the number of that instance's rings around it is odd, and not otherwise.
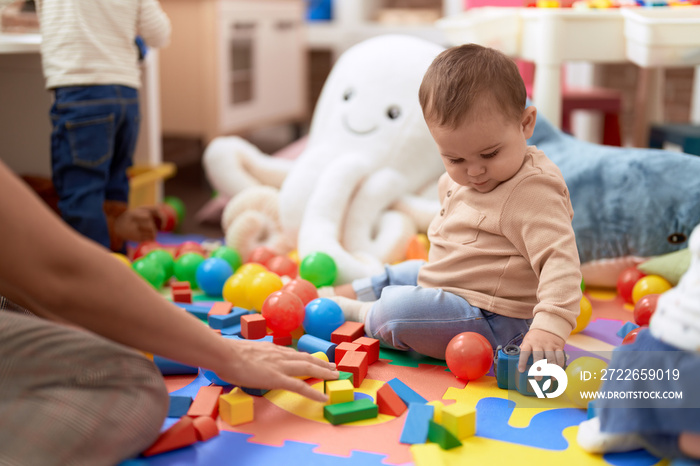
[{"label": "multicoloured foam puzzle mat on the floor under the blocks", "polygon": [[[617,331],[632,320],[629,305],[614,292],[587,290],[593,316],[589,325],[567,341],[566,351],[611,351],[622,338]],[[197,299],[204,297],[197,296]],[[210,381],[198,375],[166,376],[173,395],[194,397]],[[428,401],[445,405],[466,403],[476,408],[476,435],[460,447],[442,450],[436,443],[413,446],[399,441],[406,413],[399,417],[380,414],[376,419],[333,426],[323,418],[323,405],[299,395],[272,390],[255,397],[254,420],[231,427],[218,419],[220,434],[209,440],[151,457],[122,463],[133,465],[464,465],[464,464],[566,464],[643,465],[667,464],[666,460],[639,450],[593,455],[576,443],[578,424],[587,418],[584,409],[571,402],[537,400],[498,388],[493,369],[466,383],[447,369],[445,362],[406,352],[384,350],[369,366],[355,397],[374,399],[380,386],[398,378]],[[322,381],[308,383],[323,389]],[[230,388],[225,388],[224,392]],[[541,406],[533,403],[541,402]],[[525,407],[523,407],[525,406]],[[177,419],[168,418],[163,428]]]}]

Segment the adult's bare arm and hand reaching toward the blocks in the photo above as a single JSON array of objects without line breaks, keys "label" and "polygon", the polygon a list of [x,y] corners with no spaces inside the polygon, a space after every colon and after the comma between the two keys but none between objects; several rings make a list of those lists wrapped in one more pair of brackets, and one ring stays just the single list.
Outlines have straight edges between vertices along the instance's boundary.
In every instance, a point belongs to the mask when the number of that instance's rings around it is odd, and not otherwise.
[{"label": "adult's bare arm and hand reaching toward the blocks", "polygon": [[325,395],[293,378],[337,378],[290,348],[222,338],[62,222],[0,161],[0,294],[55,321],[215,371],[234,384]]}]

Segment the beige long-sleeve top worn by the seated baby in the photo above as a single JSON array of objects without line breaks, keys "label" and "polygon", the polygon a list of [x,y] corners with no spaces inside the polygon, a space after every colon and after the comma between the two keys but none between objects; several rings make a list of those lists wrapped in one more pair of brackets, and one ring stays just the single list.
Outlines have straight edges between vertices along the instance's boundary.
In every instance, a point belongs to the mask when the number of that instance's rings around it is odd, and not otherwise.
[{"label": "beige long-sleeve top worn by the seated baby", "polygon": [[418,284],[566,339],[580,312],[581,272],[569,191],[559,168],[529,147],[513,178],[488,193],[439,182]]}]

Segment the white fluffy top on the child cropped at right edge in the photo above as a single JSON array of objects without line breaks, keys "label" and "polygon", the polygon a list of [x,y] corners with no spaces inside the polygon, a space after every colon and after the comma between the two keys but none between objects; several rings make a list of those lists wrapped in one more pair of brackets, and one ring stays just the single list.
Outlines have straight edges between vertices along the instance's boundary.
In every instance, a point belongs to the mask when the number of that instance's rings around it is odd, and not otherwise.
[{"label": "white fluffy top on the child cropped at right edge", "polygon": [[659,297],[651,334],[669,345],[700,351],[700,226],[690,235],[690,267],[678,285]]}]

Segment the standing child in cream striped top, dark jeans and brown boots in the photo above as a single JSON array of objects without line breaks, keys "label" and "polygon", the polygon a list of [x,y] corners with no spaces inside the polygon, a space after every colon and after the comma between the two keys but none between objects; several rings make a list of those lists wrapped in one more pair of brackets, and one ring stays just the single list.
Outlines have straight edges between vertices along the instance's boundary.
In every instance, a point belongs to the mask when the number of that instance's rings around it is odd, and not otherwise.
[{"label": "standing child in cream striped top, dark jeans and brown boots", "polygon": [[170,21],[157,0],[37,0],[37,11],[63,219],[118,251],[124,240],[154,239],[156,209],[127,209],[141,118],[135,40],[166,45]]}]

